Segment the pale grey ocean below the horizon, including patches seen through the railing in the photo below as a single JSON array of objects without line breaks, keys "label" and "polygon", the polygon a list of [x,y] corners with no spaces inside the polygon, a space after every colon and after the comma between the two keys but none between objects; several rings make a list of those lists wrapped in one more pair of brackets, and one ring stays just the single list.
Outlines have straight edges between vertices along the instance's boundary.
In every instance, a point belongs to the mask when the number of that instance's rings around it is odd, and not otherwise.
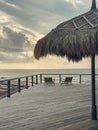
[{"label": "pale grey ocean below the horizon, including patches seen through the railing", "polygon": [[[79,82],[79,75],[74,75],[74,74],[82,74],[82,82],[91,81],[90,75],[83,76],[83,74],[91,74],[91,69],[37,69],[37,70],[36,69],[9,70],[8,69],[8,70],[0,70],[0,80],[12,79],[12,78],[35,75],[35,74],[44,74],[44,76],[45,74],[72,74],[72,76],[74,77],[74,82]],[[98,69],[96,69],[96,74],[98,74]],[[54,77],[54,78],[57,79],[58,77]]]}]

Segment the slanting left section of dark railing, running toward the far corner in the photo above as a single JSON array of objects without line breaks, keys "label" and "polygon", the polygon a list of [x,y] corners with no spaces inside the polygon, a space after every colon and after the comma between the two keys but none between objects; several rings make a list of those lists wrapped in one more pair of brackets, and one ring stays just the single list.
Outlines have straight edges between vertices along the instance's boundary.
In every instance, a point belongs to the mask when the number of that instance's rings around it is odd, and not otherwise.
[{"label": "slanting left section of dark railing, running toward the far corner", "polygon": [[0,90],[3,90],[0,92],[0,98],[11,97],[15,92],[20,93],[24,88],[33,87],[34,84],[38,84],[38,76],[39,74],[0,80]]}]

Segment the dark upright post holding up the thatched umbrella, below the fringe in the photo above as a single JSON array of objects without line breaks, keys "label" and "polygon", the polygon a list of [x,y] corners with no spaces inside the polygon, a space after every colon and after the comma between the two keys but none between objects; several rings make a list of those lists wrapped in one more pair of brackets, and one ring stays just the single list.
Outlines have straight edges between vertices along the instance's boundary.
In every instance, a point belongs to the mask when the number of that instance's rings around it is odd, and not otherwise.
[{"label": "dark upright post holding up the thatched umbrella, below the fringe", "polygon": [[97,120],[97,106],[96,106],[96,89],[95,89],[95,54],[91,55],[91,73],[92,73],[92,120]]}]

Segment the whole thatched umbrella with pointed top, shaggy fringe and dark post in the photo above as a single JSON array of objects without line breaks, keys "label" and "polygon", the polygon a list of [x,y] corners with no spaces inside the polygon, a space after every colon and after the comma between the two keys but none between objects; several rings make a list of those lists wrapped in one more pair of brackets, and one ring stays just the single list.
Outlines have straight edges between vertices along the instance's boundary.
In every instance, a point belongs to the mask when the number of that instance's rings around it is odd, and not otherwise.
[{"label": "whole thatched umbrella with pointed top, shaggy fringe and dark post", "polygon": [[63,22],[40,39],[34,49],[36,59],[48,54],[64,57],[78,62],[91,56],[92,68],[92,119],[97,119],[95,93],[95,54],[98,54],[98,10],[96,0],[92,1],[90,11]]}]

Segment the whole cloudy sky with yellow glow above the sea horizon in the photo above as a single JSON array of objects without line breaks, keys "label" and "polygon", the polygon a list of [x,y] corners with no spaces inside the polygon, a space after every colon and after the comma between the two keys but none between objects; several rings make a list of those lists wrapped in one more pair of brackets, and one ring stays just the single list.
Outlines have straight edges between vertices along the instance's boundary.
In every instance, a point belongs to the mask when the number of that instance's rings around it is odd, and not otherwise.
[{"label": "whole cloudy sky with yellow glow above the sea horizon", "polygon": [[0,0],[0,69],[90,68],[90,58],[79,63],[56,56],[36,60],[34,46],[58,24],[89,11],[91,3],[92,0]]}]

